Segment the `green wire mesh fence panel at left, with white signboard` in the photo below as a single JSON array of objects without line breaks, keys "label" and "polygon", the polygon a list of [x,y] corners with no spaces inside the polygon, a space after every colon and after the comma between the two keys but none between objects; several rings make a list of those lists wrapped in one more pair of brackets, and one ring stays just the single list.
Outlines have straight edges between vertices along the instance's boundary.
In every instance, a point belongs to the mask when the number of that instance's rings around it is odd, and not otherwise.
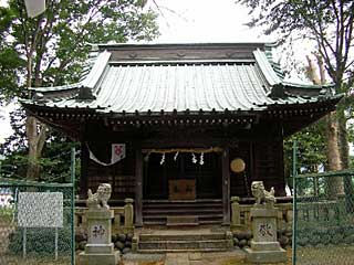
[{"label": "green wire mesh fence panel at left, with white signboard", "polygon": [[0,264],[73,263],[72,184],[0,179]]}]

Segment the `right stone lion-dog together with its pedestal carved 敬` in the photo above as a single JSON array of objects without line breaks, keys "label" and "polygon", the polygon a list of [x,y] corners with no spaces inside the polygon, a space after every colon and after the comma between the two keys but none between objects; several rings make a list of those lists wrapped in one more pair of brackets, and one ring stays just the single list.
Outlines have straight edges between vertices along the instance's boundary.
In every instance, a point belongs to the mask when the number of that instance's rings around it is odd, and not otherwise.
[{"label": "right stone lion-dog together with its pedestal carved \u656c", "polygon": [[251,190],[256,197],[256,204],[250,211],[253,239],[251,248],[246,248],[246,259],[249,263],[285,262],[287,252],[277,241],[278,209],[274,208],[274,190],[266,191],[262,181],[253,181]]}]

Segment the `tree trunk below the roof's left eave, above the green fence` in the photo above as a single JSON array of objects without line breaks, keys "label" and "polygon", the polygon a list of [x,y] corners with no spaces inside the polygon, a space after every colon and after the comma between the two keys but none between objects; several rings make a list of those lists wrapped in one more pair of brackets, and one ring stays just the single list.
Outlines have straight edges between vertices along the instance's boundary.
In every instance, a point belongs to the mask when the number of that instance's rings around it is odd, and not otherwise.
[{"label": "tree trunk below the roof's left eave, above the green fence", "polygon": [[29,141],[27,179],[39,180],[41,171],[39,159],[45,142],[46,125],[40,124],[33,116],[28,116],[25,131]]}]

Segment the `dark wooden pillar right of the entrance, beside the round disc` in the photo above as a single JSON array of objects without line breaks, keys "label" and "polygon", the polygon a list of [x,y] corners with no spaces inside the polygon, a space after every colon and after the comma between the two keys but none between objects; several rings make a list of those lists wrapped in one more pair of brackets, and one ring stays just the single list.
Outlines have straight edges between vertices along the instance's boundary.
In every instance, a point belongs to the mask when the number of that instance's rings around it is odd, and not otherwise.
[{"label": "dark wooden pillar right of the entrance, beside the round disc", "polygon": [[229,148],[222,150],[222,224],[230,224],[230,162]]}]

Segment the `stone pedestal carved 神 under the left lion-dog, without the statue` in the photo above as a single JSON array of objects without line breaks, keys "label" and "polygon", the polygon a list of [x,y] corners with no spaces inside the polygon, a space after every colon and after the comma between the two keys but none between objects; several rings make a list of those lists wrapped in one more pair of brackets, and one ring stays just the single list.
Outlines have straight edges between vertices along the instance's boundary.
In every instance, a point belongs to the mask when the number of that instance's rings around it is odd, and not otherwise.
[{"label": "stone pedestal carved \u795e under the left lion-dog, without the statue", "polygon": [[86,212],[87,244],[85,252],[80,253],[81,265],[116,265],[119,252],[114,251],[112,239],[113,210],[95,209]]}]

